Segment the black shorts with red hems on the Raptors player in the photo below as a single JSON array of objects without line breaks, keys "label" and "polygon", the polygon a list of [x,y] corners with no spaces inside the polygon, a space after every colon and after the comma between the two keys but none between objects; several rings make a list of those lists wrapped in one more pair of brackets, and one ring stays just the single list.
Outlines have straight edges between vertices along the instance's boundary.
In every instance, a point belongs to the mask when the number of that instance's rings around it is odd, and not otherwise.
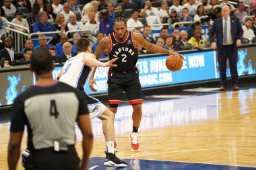
[{"label": "black shorts with red hems on the Raptors player", "polygon": [[137,67],[131,71],[108,70],[108,105],[119,105],[123,91],[125,91],[129,104],[143,102],[139,71]]}]

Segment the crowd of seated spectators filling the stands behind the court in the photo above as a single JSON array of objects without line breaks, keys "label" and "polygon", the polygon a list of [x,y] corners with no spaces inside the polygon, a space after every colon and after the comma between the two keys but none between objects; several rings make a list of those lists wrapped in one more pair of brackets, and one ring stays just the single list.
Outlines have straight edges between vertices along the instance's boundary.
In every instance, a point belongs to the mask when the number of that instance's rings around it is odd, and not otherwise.
[{"label": "crowd of seated spectators filling the stands behind the court", "polygon": [[[30,59],[33,50],[44,48],[49,50],[53,59],[63,62],[76,54],[75,43],[79,38],[86,37],[91,41],[92,52],[98,42],[113,32],[116,17],[125,17],[127,27],[131,32],[139,32],[150,43],[157,44],[168,50],[189,50],[192,48],[209,47],[209,41],[201,38],[203,25],[209,28],[214,19],[222,17],[222,6],[229,5],[232,15],[238,17],[243,24],[243,43],[256,42],[256,17],[248,16],[248,7],[255,15],[256,1],[234,0],[236,5],[228,0],[168,0],[168,1],[117,1],[117,0],[1,0],[0,59],[26,61]],[[13,40],[5,36],[7,22],[23,26],[11,28],[27,33],[56,32],[53,34],[38,34],[27,39],[21,51],[14,51]],[[175,24],[177,22],[190,22]],[[156,26],[152,26],[156,25]],[[168,29],[172,33],[168,33]],[[181,30],[189,28],[189,30]],[[82,30],[82,31],[81,31]],[[160,36],[153,38],[152,30],[160,30]],[[73,32],[70,32],[73,31]],[[67,34],[67,32],[70,32]],[[51,37],[49,41],[49,37]],[[139,54],[149,54],[138,46]],[[107,58],[108,50],[100,58]],[[16,62],[18,63],[18,62]],[[26,62],[20,62],[26,63]]]}]

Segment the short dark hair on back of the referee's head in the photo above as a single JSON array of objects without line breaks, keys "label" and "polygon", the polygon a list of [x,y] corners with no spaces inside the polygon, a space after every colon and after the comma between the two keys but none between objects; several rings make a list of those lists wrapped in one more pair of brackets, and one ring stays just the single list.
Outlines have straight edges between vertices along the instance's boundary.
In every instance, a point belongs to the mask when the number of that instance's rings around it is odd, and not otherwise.
[{"label": "short dark hair on back of the referee's head", "polygon": [[53,57],[44,49],[34,50],[30,58],[30,67],[37,75],[53,70]]}]

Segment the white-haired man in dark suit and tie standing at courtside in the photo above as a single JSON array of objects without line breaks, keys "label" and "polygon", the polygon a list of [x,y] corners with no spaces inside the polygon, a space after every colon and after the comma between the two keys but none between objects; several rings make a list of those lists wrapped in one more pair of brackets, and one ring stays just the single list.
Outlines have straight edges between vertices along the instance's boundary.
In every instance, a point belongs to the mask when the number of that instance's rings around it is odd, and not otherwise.
[{"label": "white-haired man in dark suit and tie standing at courtside", "polygon": [[[217,39],[217,43],[214,39]],[[237,17],[230,17],[230,7],[222,7],[222,17],[214,20],[212,29],[209,32],[212,48],[217,47],[218,63],[220,68],[220,91],[226,90],[226,60],[230,64],[230,74],[234,90],[238,90],[237,73],[237,47],[241,46],[243,29]]]}]

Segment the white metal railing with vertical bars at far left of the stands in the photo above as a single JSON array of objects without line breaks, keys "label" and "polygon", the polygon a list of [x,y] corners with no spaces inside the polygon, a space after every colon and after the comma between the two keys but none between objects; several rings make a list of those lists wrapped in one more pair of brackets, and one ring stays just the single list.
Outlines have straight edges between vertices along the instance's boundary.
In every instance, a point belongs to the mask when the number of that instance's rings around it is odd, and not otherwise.
[{"label": "white metal railing with vertical bars at far left of the stands", "polygon": [[[25,40],[28,39],[30,30],[24,26],[20,26],[18,24],[14,24],[11,22],[7,22],[7,24],[9,27],[5,27],[5,30],[9,30],[9,34],[11,34],[11,36],[13,38],[13,42],[14,42],[13,49],[14,49],[14,51],[20,52],[20,50],[24,46]],[[28,33],[15,30],[14,28],[22,28],[24,30],[27,30]],[[7,34],[7,32],[5,32],[5,36],[6,36],[6,34]]]}]

